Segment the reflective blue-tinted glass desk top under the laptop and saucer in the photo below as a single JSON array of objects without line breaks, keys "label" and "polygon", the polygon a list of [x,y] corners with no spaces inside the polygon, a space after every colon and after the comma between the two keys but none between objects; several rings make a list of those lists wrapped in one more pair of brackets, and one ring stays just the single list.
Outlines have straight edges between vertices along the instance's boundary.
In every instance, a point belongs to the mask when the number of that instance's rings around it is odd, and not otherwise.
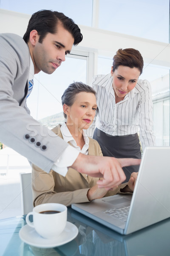
[{"label": "reflective blue-tinted glass desk top under the laptop and saucer", "polygon": [[54,248],[38,248],[20,240],[25,218],[0,220],[0,256],[170,256],[170,218],[123,236],[68,207],[68,221],[78,227],[79,234]]}]

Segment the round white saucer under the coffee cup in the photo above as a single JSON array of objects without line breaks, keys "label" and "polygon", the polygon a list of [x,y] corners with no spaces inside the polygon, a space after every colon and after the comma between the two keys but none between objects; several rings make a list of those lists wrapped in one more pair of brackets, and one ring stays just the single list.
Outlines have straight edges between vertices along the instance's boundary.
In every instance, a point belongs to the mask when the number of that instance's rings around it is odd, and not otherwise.
[{"label": "round white saucer under the coffee cup", "polygon": [[20,229],[19,236],[26,244],[41,248],[51,248],[70,242],[78,235],[78,233],[78,228],[67,221],[64,231],[57,237],[57,239],[45,239],[40,236],[34,228],[28,225],[25,225]]}]

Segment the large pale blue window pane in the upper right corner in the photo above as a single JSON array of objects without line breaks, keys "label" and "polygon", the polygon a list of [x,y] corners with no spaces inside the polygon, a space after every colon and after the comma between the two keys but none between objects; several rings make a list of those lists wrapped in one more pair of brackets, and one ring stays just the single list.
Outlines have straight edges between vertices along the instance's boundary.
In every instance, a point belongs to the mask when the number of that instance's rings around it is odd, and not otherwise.
[{"label": "large pale blue window pane in the upper right corner", "polygon": [[169,43],[169,0],[100,0],[99,28]]}]

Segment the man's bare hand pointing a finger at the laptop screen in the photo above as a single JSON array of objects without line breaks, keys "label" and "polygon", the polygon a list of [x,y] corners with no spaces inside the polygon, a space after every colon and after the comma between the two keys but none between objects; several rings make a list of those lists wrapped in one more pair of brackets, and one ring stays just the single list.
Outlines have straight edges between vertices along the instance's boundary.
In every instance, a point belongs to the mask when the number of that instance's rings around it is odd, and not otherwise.
[{"label": "man's bare hand pointing a finger at the laptop screen", "polygon": [[96,157],[79,153],[77,159],[72,164],[72,168],[80,173],[85,173],[92,177],[103,177],[97,182],[99,188],[111,189],[118,186],[125,180],[124,166],[139,165],[140,159],[114,157]]}]

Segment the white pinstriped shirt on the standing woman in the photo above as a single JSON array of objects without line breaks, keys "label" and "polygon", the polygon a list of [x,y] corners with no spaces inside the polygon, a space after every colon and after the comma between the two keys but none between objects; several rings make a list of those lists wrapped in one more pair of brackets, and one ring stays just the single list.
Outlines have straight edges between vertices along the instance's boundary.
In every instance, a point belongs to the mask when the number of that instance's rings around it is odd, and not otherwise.
[{"label": "white pinstriped shirt on the standing woman", "polygon": [[112,136],[135,134],[139,131],[143,150],[145,146],[155,145],[153,103],[147,80],[138,80],[133,90],[118,103],[115,102],[111,74],[94,76],[92,87],[97,93],[99,112],[86,132],[89,137],[93,136],[95,127]]}]

